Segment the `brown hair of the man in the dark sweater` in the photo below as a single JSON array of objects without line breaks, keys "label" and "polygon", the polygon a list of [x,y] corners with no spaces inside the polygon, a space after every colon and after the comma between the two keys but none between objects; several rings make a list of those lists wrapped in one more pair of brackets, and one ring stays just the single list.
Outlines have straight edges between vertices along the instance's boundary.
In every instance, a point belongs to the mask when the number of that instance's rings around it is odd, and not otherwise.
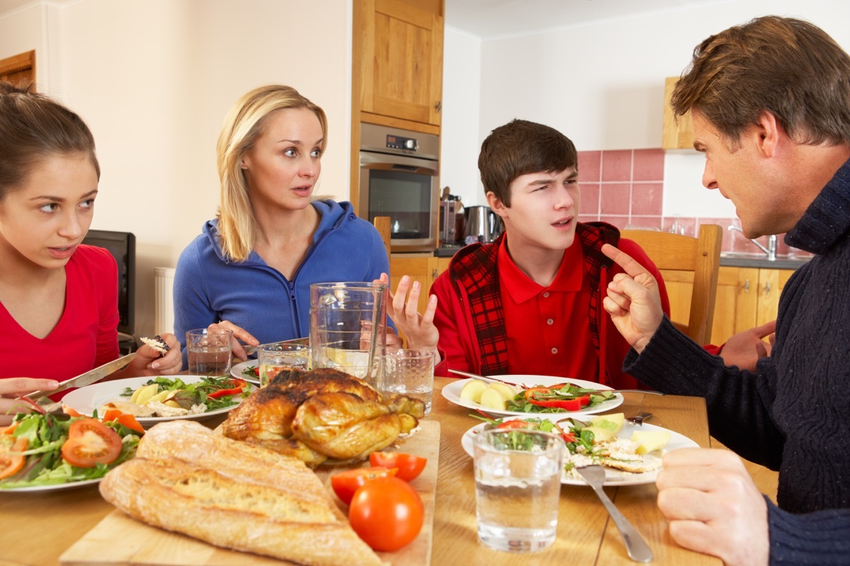
[{"label": "brown hair of the man in the dark sweater", "polygon": [[768,110],[797,143],[850,143],[850,56],[807,21],[764,16],[708,37],[671,100],[730,147]]}]

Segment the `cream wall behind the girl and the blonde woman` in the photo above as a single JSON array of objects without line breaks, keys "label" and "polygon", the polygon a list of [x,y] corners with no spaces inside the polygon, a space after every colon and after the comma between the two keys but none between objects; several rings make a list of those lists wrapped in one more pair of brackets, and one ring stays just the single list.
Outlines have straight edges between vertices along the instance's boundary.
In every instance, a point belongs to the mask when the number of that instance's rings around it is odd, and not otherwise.
[{"label": "cream wall behind the girl and the blonde woman", "polygon": [[92,227],[136,235],[138,335],[171,330],[153,328],[153,269],[215,216],[218,130],[243,92],[282,82],[326,110],[318,191],[348,199],[350,0],[45,0],[0,14],[0,58],[32,48],[39,89],[94,132]]}]

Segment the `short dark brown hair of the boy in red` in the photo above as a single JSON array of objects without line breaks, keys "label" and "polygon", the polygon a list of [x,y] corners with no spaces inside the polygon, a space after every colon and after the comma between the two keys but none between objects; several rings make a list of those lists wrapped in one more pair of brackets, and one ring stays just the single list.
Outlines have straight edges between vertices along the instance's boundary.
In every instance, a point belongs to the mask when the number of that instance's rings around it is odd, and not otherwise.
[{"label": "short dark brown hair of the boy in red", "polygon": [[511,182],[528,173],[559,172],[578,165],[575,145],[553,127],[528,120],[499,126],[481,144],[479,171],[484,193],[511,205]]}]

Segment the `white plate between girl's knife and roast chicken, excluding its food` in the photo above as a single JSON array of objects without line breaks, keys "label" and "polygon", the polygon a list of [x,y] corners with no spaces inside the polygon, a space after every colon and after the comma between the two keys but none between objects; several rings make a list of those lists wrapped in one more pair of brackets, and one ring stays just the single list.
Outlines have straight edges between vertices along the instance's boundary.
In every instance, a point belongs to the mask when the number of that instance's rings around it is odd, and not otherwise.
[{"label": "white plate between girl's knife and roast chicken, excluding its food", "polygon": [[[184,383],[193,384],[201,381],[201,378],[206,376],[173,375],[161,377],[168,379],[180,378],[184,381]],[[91,415],[96,409],[104,406],[108,401],[114,401],[116,399],[129,401],[129,397],[121,396],[124,389],[127,389],[127,387],[131,389],[138,389],[142,385],[148,383],[151,379],[153,379],[153,377],[116,379],[115,381],[103,381],[99,384],[87,385],[80,389],[74,389],[71,393],[65,395],[65,397],[62,398],[62,403],[65,406],[70,406],[71,409],[74,409],[82,415]],[[248,388],[250,389],[251,386],[249,385]],[[226,406],[224,409],[217,409],[215,411],[201,412],[195,415],[180,415],[179,417],[136,417],[136,420],[139,421],[139,424],[141,424],[144,428],[152,427],[156,423],[181,419],[202,421],[228,412],[230,409],[238,406],[242,399],[239,395],[234,395],[233,401],[235,401],[236,405]]]}]

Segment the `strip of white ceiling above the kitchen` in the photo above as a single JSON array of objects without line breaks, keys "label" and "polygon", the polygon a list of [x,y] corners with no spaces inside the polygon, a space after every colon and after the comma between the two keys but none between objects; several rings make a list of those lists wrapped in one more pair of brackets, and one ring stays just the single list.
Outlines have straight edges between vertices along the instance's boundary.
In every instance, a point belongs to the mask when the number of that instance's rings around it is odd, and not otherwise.
[{"label": "strip of white ceiling above the kitchen", "polygon": [[482,39],[737,0],[445,0],[445,25]]}]

